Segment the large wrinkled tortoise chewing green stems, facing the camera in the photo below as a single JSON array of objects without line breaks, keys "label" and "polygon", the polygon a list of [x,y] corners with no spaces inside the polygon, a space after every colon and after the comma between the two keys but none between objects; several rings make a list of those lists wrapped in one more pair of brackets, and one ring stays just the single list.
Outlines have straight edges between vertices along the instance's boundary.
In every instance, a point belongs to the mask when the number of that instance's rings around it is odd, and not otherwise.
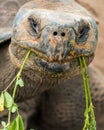
[{"label": "large wrinkled tortoise chewing green stems, facing the camera", "polygon": [[[83,55],[87,65],[94,58],[98,29],[93,16],[75,0],[0,2],[0,92],[31,50],[22,74],[25,86],[15,99],[25,128],[81,130],[85,97],[78,57]],[[88,70],[97,111],[103,106],[103,76],[92,66]],[[6,111],[0,120],[7,120]]]}]

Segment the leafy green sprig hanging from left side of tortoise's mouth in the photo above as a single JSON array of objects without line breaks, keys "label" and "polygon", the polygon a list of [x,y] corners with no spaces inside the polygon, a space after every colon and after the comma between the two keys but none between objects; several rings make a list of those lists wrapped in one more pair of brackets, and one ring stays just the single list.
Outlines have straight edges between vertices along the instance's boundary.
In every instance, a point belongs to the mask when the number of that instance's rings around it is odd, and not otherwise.
[{"label": "leafy green sprig hanging from left side of tortoise's mouth", "polygon": [[[24,86],[24,82],[21,78],[21,74],[22,74],[22,71],[26,64],[26,61],[28,60],[29,55],[30,55],[30,50],[27,52],[17,75],[10,82],[10,84],[6,87],[6,89],[3,90],[3,92],[1,93],[0,111],[3,111],[4,107],[8,110],[8,122],[6,123],[6,122],[2,121],[1,125],[3,128],[0,130],[24,130],[24,123],[23,123],[21,115],[19,114],[18,105],[15,103],[14,99],[15,99],[17,88]],[[15,82],[15,86],[13,89],[13,94],[10,95],[7,90],[14,83],[14,81],[16,81],[16,82]],[[11,122],[11,113],[16,114],[16,117],[12,122]]]}]

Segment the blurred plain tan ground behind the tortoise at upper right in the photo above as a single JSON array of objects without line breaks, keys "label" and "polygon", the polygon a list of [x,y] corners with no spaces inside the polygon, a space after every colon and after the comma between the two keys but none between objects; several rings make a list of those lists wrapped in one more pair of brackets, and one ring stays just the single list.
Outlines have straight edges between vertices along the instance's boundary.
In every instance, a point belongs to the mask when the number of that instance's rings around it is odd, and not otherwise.
[{"label": "blurred plain tan ground behind the tortoise at upper right", "polygon": [[99,39],[93,65],[104,74],[104,0],[78,0],[98,22]]}]

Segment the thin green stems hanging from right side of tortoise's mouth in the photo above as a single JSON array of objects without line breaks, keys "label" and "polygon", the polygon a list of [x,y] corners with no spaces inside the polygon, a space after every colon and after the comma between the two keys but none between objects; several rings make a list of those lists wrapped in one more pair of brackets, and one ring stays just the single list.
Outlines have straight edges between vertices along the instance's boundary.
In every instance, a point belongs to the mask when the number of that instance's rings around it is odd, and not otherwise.
[{"label": "thin green stems hanging from right side of tortoise's mouth", "polygon": [[82,72],[82,79],[84,83],[84,93],[86,100],[86,108],[85,108],[85,123],[82,130],[96,130],[96,121],[94,115],[94,107],[91,98],[90,85],[88,81],[88,71],[86,66],[86,61],[84,56],[79,57],[80,68]]}]

